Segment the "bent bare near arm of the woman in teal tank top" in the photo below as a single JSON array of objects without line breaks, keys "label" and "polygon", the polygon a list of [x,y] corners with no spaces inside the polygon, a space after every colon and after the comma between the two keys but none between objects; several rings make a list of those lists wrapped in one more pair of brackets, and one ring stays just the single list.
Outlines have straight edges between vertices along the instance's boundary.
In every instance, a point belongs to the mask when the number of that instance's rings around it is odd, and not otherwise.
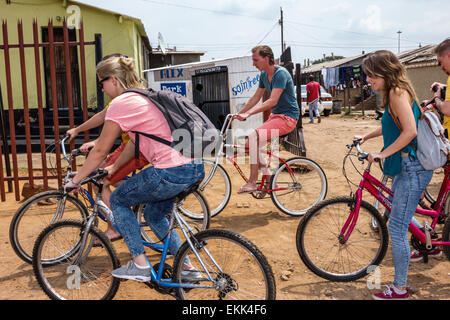
[{"label": "bent bare near arm of the woman in teal tank top", "polygon": [[401,131],[394,143],[380,153],[382,159],[402,150],[417,136],[416,120],[409,94],[405,90],[392,89],[389,93],[389,106],[393,116],[400,122]]}]

